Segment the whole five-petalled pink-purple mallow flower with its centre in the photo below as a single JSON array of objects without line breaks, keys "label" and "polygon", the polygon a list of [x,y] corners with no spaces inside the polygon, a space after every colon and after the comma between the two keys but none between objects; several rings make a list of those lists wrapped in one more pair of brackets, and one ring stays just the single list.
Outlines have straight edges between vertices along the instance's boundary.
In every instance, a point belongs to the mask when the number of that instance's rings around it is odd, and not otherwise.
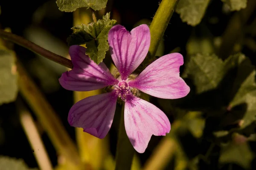
[{"label": "whole five-petalled pink-purple mallow flower with its centre", "polygon": [[107,87],[109,92],[94,95],[71,107],[68,122],[84,132],[104,138],[110,130],[116,102],[125,102],[125,130],[134,149],[143,153],[152,135],[166,135],[171,130],[167,116],[153,104],[139,98],[144,92],[157,98],[176,99],[189,93],[189,86],[180,78],[183,56],[165,55],[148,65],[140,75],[132,74],[145,59],[150,46],[150,31],[143,24],[128,32],[116,25],[108,33],[113,62],[119,71],[111,75],[104,63],[97,65],[85,55],[82,46],[70,46],[71,71],[59,78],[62,87],[73,91],[90,91]]}]

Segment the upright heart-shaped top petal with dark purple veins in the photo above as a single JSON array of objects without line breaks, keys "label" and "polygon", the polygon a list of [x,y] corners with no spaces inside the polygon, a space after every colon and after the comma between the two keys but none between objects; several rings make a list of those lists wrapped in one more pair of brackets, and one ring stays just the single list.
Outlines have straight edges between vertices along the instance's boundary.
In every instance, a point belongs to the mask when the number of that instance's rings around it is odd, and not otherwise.
[{"label": "upright heart-shaped top petal with dark purple veins", "polygon": [[150,31],[142,24],[128,32],[125,27],[116,25],[108,33],[111,57],[122,80],[126,80],[137,69],[148,53]]}]

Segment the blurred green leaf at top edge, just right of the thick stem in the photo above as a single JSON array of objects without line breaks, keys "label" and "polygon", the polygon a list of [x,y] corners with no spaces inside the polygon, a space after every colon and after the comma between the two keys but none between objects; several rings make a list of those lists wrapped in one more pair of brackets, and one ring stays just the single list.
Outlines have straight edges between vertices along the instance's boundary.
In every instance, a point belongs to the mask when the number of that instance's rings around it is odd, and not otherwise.
[{"label": "blurred green leaf at top edge, just right of the thick stem", "polygon": [[209,0],[180,0],[176,12],[183,22],[196,26],[201,22]]}]

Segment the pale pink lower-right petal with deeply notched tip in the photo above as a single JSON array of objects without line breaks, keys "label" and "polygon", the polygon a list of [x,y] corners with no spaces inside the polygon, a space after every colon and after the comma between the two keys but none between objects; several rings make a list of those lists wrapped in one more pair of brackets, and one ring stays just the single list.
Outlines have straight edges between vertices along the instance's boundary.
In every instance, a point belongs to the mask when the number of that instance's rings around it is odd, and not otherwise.
[{"label": "pale pink lower-right petal with deeply notched tip", "polygon": [[156,106],[131,96],[125,101],[125,130],[134,149],[144,153],[151,135],[166,135],[171,130],[171,124]]}]

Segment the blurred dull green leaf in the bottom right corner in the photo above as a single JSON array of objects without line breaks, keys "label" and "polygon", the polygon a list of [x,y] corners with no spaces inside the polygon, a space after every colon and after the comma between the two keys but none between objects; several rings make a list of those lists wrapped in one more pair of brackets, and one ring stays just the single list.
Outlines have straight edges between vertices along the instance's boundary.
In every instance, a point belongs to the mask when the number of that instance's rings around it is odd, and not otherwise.
[{"label": "blurred dull green leaf in the bottom right corner", "polygon": [[253,157],[253,153],[246,142],[243,144],[232,142],[222,147],[219,162],[221,164],[236,163],[245,169],[250,169]]}]

